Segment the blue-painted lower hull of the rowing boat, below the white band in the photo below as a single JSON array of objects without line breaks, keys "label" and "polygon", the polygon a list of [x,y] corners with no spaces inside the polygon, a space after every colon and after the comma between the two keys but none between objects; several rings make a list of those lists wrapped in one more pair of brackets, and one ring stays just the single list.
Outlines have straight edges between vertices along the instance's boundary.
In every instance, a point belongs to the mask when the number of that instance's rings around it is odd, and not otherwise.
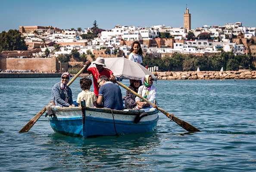
[{"label": "blue-painted lower hull of the rowing boat, below the white band", "polygon": [[[72,137],[83,137],[82,117],[53,117],[50,120],[50,125],[54,132]],[[106,120],[104,118],[86,117],[85,132],[87,136],[90,135],[115,135],[118,134],[139,134],[144,132],[151,132],[156,129],[158,117],[153,121],[146,121],[140,123],[133,123],[131,121]]]}]

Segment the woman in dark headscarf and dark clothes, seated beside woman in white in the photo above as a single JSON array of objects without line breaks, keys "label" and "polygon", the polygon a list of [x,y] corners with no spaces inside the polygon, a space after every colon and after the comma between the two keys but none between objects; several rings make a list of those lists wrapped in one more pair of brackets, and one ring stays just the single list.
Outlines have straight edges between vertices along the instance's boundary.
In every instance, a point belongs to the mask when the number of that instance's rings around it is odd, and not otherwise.
[{"label": "woman in dark headscarf and dark clothes, seated beside woman in white", "polygon": [[[130,84],[129,89],[134,92],[138,92],[139,87],[142,85],[140,80],[133,80]],[[131,92],[126,91],[126,99],[125,99],[125,109],[132,109],[136,107],[137,103],[135,101],[136,95]]]}]

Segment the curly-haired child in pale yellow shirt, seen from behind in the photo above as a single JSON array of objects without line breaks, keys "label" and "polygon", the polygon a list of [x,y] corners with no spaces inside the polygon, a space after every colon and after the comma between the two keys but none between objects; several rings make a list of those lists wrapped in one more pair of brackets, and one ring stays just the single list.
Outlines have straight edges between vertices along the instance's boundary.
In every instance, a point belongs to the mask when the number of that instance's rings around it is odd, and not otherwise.
[{"label": "curly-haired child in pale yellow shirt, seen from behind", "polygon": [[94,107],[94,106],[100,107],[97,104],[97,97],[95,93],[90,91],[91,85],[92,85],[91,79],[86,77],[80,79],[80,86],[83,91],[80,92],[77,96],[76,102],[78,103],[78,106],[80,106],[81,100],[85,100],[86,107]]}]

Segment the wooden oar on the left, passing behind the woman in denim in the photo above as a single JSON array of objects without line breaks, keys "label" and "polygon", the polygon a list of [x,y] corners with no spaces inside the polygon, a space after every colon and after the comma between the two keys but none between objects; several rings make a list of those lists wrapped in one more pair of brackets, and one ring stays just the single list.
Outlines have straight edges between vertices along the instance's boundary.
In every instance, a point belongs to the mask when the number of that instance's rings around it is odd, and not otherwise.
[{"label": "wooden oar on the left, passing behind the woman in denim", "polygon": [[[75,75],[75,77],[73,77],[72,80],[69,81],[67,86],[70,86],[73,83],[73,81],[84,71],[86,67],[87,65],[84,65],[84,67]],[[31,129],[34,123],[36,123],[37,120],[42,116],[42,114],[44,114],[44,112],[46,111],[46,107],[44,107],[44,109],[42,109],[38,114],[36,114],[19,132],[28,132],[28,130]]]}]

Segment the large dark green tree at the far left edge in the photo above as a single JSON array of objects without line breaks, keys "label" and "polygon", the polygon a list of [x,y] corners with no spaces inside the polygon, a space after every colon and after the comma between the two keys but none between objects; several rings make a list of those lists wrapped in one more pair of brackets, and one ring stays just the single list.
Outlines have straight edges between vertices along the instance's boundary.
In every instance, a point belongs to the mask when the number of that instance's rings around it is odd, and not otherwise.
[{"label": "large dark green tree at the far left edge", "polygon": [[22,37],[21,33],[16,29],[10,29],[8,32],[3,31],[0,34],[0,46],[1,49],[6,49],[7,51],[28,50],[28,46],[25,43],[25,37]]}]

